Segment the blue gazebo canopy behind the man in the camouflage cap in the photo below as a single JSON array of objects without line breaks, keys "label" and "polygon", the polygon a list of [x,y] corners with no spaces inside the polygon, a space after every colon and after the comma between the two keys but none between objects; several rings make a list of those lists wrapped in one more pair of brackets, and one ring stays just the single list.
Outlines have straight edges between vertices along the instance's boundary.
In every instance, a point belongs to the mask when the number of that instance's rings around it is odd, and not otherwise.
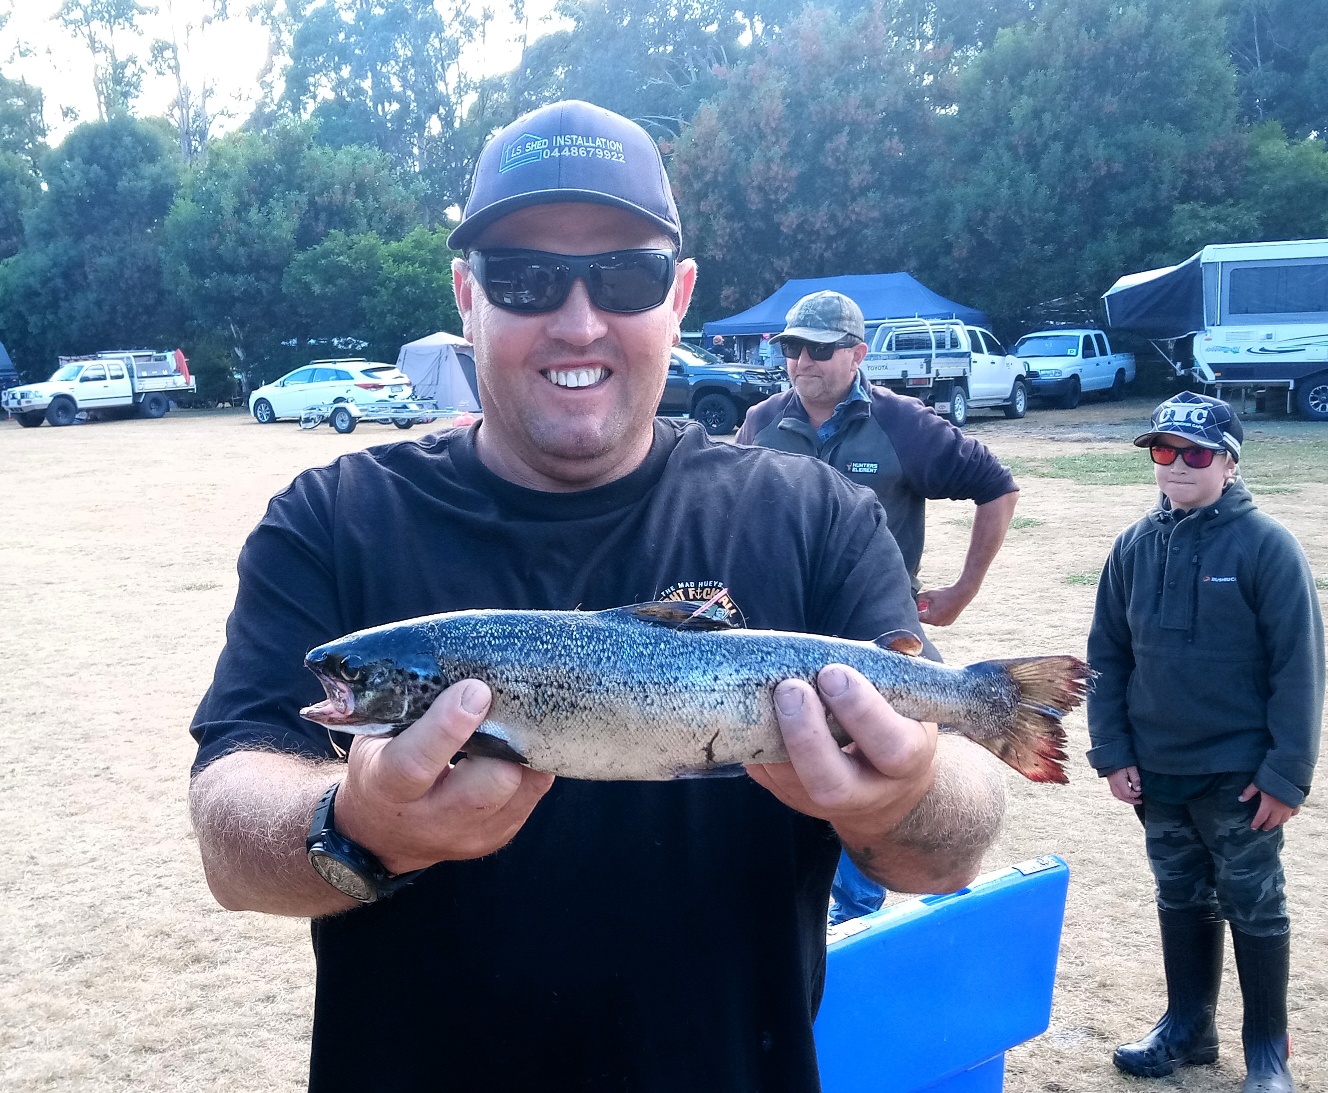
[{"label": "blue gazebo canopy behind the man in the camouflage cap", "polygon": [[766,296],[756,307],[706,323],[706,341],[714,335],[778,333],[784,329],[784,316],[789,308],[810,292],[822,290],[842,292],[862,308],[867,325],[884,319],[960,319],[975,327],[985,327],[987,316],[976,308],[947,300],[932,292],[911,274],[851,274],[839,278],[806,278],[785,282],[774,295]]}]

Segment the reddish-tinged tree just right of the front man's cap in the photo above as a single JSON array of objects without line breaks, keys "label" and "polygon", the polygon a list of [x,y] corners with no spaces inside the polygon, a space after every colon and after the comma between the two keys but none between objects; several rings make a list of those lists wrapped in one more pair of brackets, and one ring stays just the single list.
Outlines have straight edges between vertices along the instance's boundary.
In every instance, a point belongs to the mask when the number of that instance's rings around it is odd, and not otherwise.
[{"label": "reddish-tinged tree just right of the front man's cap", "polygon": [[703,315],[793,276],[907,268],[935,149],[912,60],[879,8],[807,9],[726,76],[672,157]]}]

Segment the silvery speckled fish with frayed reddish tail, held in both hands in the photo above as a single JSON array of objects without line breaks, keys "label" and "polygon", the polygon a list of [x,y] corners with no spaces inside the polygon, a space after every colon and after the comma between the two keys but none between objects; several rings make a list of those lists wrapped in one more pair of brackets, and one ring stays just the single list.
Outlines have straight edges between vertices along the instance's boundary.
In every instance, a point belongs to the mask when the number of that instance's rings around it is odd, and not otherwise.
[{"label": "silvery speckled fish with frayed reddish tail, held in both hands", "polygon": [[[1066,782],[1061,718],[1092,671],[1074,656],[924,660],[920,639],[875,641],[748,630],[681,600],[608,611],[473,610],[361,630],[311,649],[327,699],[300,711],[329,729],[393,736],[463,679],[493,692],[466,756],[559,777],[671,781],[785,762],[774,688],[847,664],[906,717],[935,721],[1035,782]],[[830,732],[850,742],[833,716]]]}]

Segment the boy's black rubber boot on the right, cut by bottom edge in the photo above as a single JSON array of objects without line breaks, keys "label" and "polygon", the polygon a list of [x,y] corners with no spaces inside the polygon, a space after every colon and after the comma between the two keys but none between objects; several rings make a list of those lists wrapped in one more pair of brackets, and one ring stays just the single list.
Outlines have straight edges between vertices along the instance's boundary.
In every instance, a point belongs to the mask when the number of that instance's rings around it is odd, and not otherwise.
[{"label": "boy's black rubber boot on the right, cut by bottom edge", "polygon": [[1287,1037],[1287,976],[1291,969],[1291,932],[1256,938],[1231,931],[1244,995],[1246,1017],[1240,1029],[1246,1048],[1243,1093],[1295,1093],[1287,1069],[1291,1041]]}]

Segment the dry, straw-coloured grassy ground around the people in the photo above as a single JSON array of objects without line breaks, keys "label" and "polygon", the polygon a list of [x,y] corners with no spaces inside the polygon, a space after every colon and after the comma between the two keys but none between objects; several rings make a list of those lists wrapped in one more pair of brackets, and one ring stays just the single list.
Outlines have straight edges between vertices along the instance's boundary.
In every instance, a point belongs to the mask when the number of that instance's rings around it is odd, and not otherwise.
[{"label": "dry, straw-coloured grassy ground around the people", "polygon": [[[950,661],[1084,652],[1096,574],[1153,499],[1146,457],[1123,446],[1150,405],[971,421],[1016,467],[1023,495],[981,595],[956,626],[932,631]],[[1270,418],[1247,430],[1260,505],[1328,575],[1328,426]],[[0,1088],[303,1088],[307,924],[212,903],[186,813],[186,726],[222,647],[236,554],[268,497],[341,452],[405,438],[377,425],[349,437],[259,426],[242,412],[69,429],[0,422]],[[972,506],[928,511],[924,578],[948,583]],[[1084,761],[1081,713],[1069,732],[1072,784],[1012,776],[987,866],[1053,851],[1072,869],[1052,1027],[1011,1052],[1007,1089],[1238,1090],[1230,959],[1215,1068],[1149,1084],[1110,1064],[1112,1047],[1163,1008],[1161,956],[1138,822]],[[1304,1093],[1328,1093],[1320,797],[1291,822],[1286,851],[1292,1065]]]}]

